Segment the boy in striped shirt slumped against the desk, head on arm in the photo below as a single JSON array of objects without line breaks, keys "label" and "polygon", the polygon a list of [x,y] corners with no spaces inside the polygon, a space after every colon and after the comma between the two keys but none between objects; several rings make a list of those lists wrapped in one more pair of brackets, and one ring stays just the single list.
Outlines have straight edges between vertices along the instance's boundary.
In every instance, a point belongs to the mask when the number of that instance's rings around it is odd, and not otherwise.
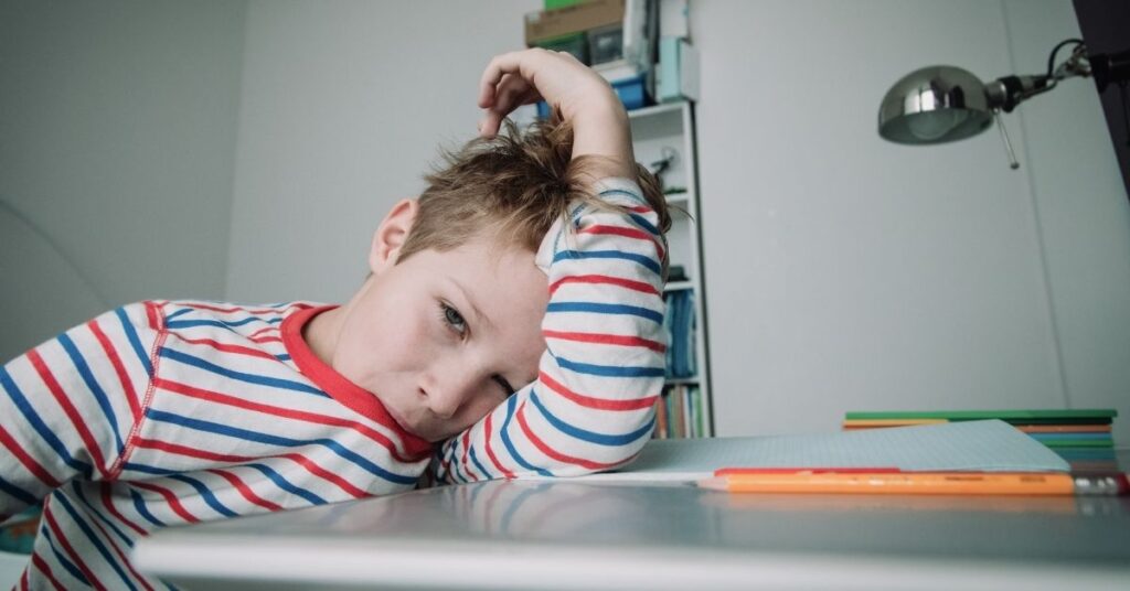
[{"label": "boy in striped shirt slumped against the desk, head on arm", "polygon": [[[542,97],[572,141],[489,139]],[[407,490],[433,457],[443,481],[634,457],[663,376],[663,198],[567,54],[495,58],[479,106],[486,139],[392,208],[344,306],[146,302],[0,371],[0,521],[45,497],[20,588],[159,588],[128,559],[155,528]]]}]

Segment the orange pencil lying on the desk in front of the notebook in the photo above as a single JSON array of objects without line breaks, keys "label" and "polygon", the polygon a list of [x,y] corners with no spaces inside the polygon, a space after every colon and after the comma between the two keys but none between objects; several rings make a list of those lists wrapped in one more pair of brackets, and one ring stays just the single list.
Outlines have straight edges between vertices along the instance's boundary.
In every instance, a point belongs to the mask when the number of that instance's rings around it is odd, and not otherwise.
[{"label": "orange pencil lying on the desk in front of the notebook", "polygon": [[1123,495],[1124,473],[1049,472],[811,472],[734,473],[698,481],[729,493],[864,495]]}]

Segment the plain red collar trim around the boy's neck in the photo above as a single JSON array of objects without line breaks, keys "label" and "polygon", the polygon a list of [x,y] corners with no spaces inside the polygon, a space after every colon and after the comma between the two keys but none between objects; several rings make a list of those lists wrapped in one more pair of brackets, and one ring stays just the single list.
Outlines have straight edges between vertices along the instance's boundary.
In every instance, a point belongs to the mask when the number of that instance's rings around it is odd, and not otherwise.
[{"label": "plain red collar trim around the boy's neck", "polygon": [[405,453],[410,458],[419,458],[432,452],[432,443],[414,433],[405,431],[397,423],[384,405],[372,392],[350,382],[346,376],[339,374],[332,367],[323,363],[310,350],[306,339],[302,338],[302,329],[311,319],[338,306],[321,306],[303,310],[290,314],[282,321],[280,328],[282,332],[282,345],[286,347],[290,358],[303,375],[314,382],[325,393],[338,402],[345,405],[354,412],[392,429],[405,443]]}]

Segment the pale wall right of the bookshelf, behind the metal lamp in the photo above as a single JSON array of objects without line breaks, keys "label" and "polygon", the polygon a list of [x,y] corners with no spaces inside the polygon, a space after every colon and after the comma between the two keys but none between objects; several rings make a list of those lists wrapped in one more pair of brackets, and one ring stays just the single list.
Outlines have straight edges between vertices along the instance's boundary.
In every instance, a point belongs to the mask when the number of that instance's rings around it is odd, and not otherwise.
[{"label": "pale wall right of the bookshelf, behind the metal lamp", "polygon": [[904,73],[1043,70],[1068,0],[693,3],[718,433],[846,410],[1116,407],[1130,437],[1130,211],[1094,86],[996,131],[885,142]]}]

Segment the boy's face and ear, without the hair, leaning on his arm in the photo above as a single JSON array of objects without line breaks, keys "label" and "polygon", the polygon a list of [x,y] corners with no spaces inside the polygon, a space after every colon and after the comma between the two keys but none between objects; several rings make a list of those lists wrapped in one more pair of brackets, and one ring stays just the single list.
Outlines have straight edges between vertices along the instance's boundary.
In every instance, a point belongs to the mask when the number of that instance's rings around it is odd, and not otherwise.
[{"label": "boy's face and ear, without the hair, leaning on his arm", "polygon": [[548,285],[532,252],[483,236],[397,263],[415,217],[415,202],[401,203],[374,238],[373,276],[342,310],[332,366],[402,427],[441,441],[537,379]]}]

